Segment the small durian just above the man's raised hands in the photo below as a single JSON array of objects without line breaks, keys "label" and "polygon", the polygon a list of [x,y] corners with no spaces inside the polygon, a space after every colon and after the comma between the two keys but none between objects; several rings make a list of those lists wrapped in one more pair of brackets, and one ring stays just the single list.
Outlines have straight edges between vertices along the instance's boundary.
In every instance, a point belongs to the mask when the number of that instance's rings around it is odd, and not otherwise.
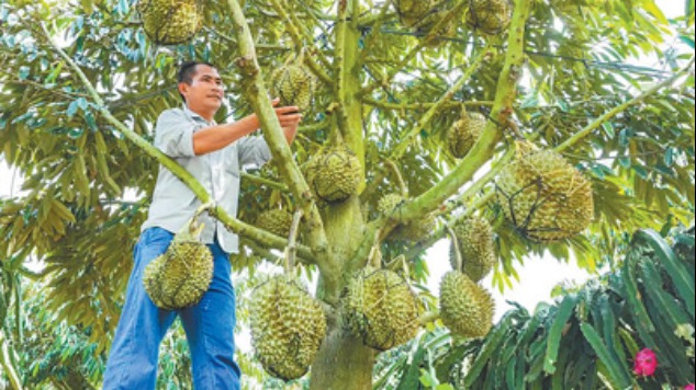
[{"label": "small durian just above the man's raised hands", "polygon": [[302,64],[302,56],[276,69],[270,78],[270,93],[280,97],[279,106],[296,105],[300,111],[312,104],[315,87],[316,78]]}]

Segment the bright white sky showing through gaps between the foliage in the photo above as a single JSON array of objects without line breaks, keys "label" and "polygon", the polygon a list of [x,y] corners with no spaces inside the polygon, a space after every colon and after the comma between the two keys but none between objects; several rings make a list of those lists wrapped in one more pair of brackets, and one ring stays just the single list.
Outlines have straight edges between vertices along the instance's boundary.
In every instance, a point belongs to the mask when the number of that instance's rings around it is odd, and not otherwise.
[{"label": "bright white sky showing through gaps between the foliage", "polygon": [[[666,18],[676,18],[684,14],[683,0],[659,0],[656,1],[663,10]],[[647,66],[655,66],[655,64],[646,64]],[[14,185],[12,185],[14,184]],[[13,180],[12,171],[4,163],[3,156],[0,154],[0,197],[18,195],[21,186],[21,177]],[[438,292],[439,280],[442,275],[450,269],[448,251],[449,243],[447,240],[438,242],[427,251],[429,259],[429,267],[431,277],[428,287],[434,294]],[[482,284],[493,294],[496,301],[495,320],[507,311],[510,307],[505,300],[513,300],[523,307],[532,311],[540,301],[550,301],[550,291],[561,282],[571,282],[581,284],[591,275],[584,269],[579,268],[574,262],[569,264],[560,263],[552,257],[529,259],[523,266],[518,266],[519,282],[514,283],[512,289],[499,294],[491,286],[491,277],[485,278]],[[250,344],[247,337],[240,337],[238,347],[243,352],[250,351]]]}]

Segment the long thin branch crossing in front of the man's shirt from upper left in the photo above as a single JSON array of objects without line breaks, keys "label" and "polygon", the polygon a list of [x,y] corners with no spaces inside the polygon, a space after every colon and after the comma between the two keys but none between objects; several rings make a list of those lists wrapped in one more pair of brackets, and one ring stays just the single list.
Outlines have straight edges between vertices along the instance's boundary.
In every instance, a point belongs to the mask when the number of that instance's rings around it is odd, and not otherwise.
[{"label": "long thin branch crossing in front of the man's shirt from upper left", "polygon": [[[58,45],[56,45],[55,42],[53,42],[50,33],[48,33],[46,26],[42,24],[42,28],[54,50],[58,53],[58,55],[70,66],[72,71],[82,82],[85,89],[87,89],[91,99],[94,101],[94,103],[97,103],[100,114],[121,134],[123,134],[127,139],[130,139],[138,148],[141,148],[146,154],[157,160],[162,167],[168,169],[173,175],[181,180],[181,182],[189,186],[189,188],[191,188],[191,192],[193,192],[193,194],[201,200],[202,204],[212,202],[212,198],[207,191],[205,191],[205,187],[203,187],[201,183],[195,180],[195,177],[193,177],[186,169],[179,165],[173,159],[162,153],[159,149],[151,146],[148,141],[143,139],[135,131],[130,129],[126,125],[124,125],[121,121],[119,121],[111,114],[111,112],[104,105],[104,101],[101,99],[85,72],[82,72],[79,66]],[[221,222],[223,222],[228,229],[237,234],[245,236],[249,239],[256,240],[262,244],[267,244],[273,248],[284,248],[288,244],[288,240],[273,236],[266,230],[244,223],[240,220],[229,216],[221,207],[216,207],[213,214]],[[303,248],[301,250],[301,255],[310,259],[312,257],[310,250],[306,248]]]}]

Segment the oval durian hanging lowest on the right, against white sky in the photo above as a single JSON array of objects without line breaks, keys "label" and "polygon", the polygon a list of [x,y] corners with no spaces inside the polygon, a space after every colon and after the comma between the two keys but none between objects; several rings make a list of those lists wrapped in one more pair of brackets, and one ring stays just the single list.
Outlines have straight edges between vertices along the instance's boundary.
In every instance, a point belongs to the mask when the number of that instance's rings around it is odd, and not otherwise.
[{"label": "oval durian hanging lowest on the right, against white sky", "polygon": [[440,319],[453,334],[483,337],[493,325],[495,303],[467,275],[450,271],[440,282]]}]

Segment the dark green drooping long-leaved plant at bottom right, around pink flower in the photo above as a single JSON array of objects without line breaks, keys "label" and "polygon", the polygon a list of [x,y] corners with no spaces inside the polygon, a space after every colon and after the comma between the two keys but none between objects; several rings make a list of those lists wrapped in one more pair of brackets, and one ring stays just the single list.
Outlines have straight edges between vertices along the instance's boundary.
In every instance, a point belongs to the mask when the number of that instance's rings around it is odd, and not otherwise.
[{"label": "dark green drooping long-leaved plant at bottom right, around pink flower", "polygon": [[[404,389],[426,388],[423,371],[471,389],[662,389],[694,382],[693,352],[677,332],[694,324],[694,228],[678,229],[671,241],[672,248],[654,231],[638,231],[615,272],[565,291],[553,305],[540,303],[534,313],[508,311],[482,340],[453,341],[440,329],[424,335],[391,359],[379,388],[389,388],[390,380]],[[656,353],[654,377],[631,372],[644,347]]]}]

